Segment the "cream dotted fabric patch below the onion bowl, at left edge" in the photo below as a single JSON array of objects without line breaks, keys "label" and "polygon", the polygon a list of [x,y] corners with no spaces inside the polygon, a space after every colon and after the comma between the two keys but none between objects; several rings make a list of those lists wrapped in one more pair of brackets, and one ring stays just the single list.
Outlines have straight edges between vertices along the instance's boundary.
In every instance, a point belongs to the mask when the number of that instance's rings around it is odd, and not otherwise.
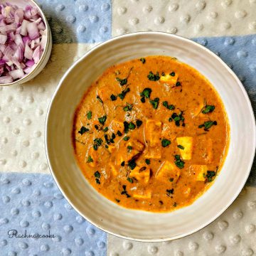
[{"label": "cream dotted fabric patch below the onion bowl, at left edge", "polygon": [[48,65],[36,78],[0,87],[1,172],[49,173],[44,129],[50,98],[65,71],[92,46],[53,45]]}]

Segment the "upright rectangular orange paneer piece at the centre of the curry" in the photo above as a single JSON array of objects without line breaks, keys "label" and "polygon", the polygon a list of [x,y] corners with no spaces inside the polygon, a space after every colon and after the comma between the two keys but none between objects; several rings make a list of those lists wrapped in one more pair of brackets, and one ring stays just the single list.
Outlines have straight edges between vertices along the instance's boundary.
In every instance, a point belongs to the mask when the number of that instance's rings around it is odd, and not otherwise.
[{"label": "upright rectangular orange paneer piece at the centre of the curry", "polygon": [[144,134],[149,146],[159,146],[161,138],[161,122],[147,119]]}]

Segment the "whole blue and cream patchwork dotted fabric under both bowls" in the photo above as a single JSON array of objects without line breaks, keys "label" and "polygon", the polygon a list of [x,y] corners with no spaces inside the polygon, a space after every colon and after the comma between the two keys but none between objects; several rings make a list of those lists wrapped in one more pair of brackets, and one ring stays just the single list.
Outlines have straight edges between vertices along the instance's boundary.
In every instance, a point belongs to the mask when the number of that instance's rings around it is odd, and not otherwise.
[{"label": "whole blue and cream patchwork dotted fabric under both bowls", "polygon": [[[240,196],[208,227],[171,242],[133,242],[107,235],[73,210],[50,176],[43,139],[50,97],[68,67],[95,44],[134,31],[176,33],[213,50],[256,110],[256,0],[38,4],[53,33],[49,63],[24,85],[0,87],[0,255],[256,255],[255,165]],[[54,238],[10,238],[9,230]]]}]

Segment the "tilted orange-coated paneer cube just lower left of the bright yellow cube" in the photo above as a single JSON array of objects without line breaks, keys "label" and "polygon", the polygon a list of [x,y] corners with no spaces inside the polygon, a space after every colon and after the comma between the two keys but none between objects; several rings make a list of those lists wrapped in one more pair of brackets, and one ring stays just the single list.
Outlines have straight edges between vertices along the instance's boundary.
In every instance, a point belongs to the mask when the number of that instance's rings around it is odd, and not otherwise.
[{"label": "tilted orange-coated paneer cube just lower left of the bright yellow cube", "polygon": [[157,171],[156,178],[163,182],[177,182],[180,175],[181,171],[175,166],[175,164],[165,161]]}]

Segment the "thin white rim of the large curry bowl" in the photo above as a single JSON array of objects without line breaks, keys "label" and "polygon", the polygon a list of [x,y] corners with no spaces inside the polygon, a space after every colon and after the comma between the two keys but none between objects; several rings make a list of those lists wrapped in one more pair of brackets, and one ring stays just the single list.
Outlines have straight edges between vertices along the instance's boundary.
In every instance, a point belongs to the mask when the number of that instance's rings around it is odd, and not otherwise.
[{"label": "thin white rim of the large curry bowl", "polygon": [[[102,228],[102,226],[100,225],[100,223],[95,223],[93,220],[90,219],[90,217],[87,217],[85,215],[83,215],[83,213],[80,212],[80,210],[78,210],[76,208],[76,206],[73,205],[73,203],[70,201],[70,199],[68,198],[68,196],[66,196],[65,192],[63,191],[60,183],[58,182],[58,179],[56,178],[55,176],[55,172],[53,171],[53,168],[50,164],[50,157],[48,155],[48,120],[49,120],[49,117],[50,117],[50,110],[53,106],[53,102],[55,100],[55,96],[57,95],[58,93],[58,90],[60,89],[61,85],[63,85],[63,81],[65,80],[65,78],[68,77],[68,75],[70,74],[70,72],[73,70],[73,68],[75,68],[76,65],[78,65],[80,62],[82,62],[82,60],[84,60],[85,58],[87,58],[87,55],[90,55],[94,50],[98,49],[98,48],[101,48],[102,46],[105,46],[105,44],[107,43],[112,43],[113,41],[117,41],[119,40],[119,38],[127,38],[127,37],[132,37],[132,36],[139,36],[139,35],[147,35],[147,34],[151,34],[151,35],[155,35],[155,36],[158,36],[158,35],[161,35],[161,34],[164,34],[166,36],[169,36],[170,38],[174,37],[174,38],[181,38],[181,40],[183,41],[186,41],[188,43],[192,43],[193,45],[197,46],[197,47],[200,47],[202,50],[206,50],[208,53],[210,53],[210,55],[217,59],[222,65],[225,66],[225,68],[227,68],[228,70],[228,73],[230,73],[230,75],[233,76],[233,78],[238,82],[238,85],[240,86],[240,89],[242,90],[242,94],[245,96],[245,100],[246,100],[246,103],[247,105],[250,107],[250,118],[252,119],[252,122],[254,124],[254,129],[252,131],[252,143],[254,144],[254,150],[252,151],[251,153],[251,157],[250,157],[250,163],[248,164],[248,168],[245,172],[245,175],[244,175],[244,178],[242,181],[240,181],[240,186],[238,186],[238,189],[237,189],[237,192],[232,196],[230,197],[230,200],[228,201],[228,203],[226,203],[226,206],[223,207],[221,210],[218,211],[218,213],[216,213],[213,218],[210,218],[210,220],[206,221],[205,223],[199,225],[198,227],[196,228],[193,228],[191,229],[189,232],[186,232],[186,233],[183,233],[181,235],[177,235],[175,237],[172,237],[172,238],[154,238],[154,239],[139,239],[139,238],[132,238],[132,237],[127,237],[127,236],[124,236],[124,235],[120,235],[118,233],[114,233],[110,230],[106,230],[105,228]],[[71,206],[73,206],[73,208],[80,214],[82,215],[83,218],[85,218],[85,220],[89,221],[90,223],[92,223],[92,225],[95,225],[95,227],[97,228],[100,228],[100,230],[103,230],[105,231],[106,233],[109,233],[111,235],[114,235],[118,238],[124,238],[124,239],[127,239],[127,240],[133,240],[133,241],[138,241],[138,242],[164,242],[164,241],[170,241],[170,240],[176,240],[176,239],[179,239],[179,238],[184,238],[188,235],[191,235],[193,233],[196,233],[197,231],[205,228],[206,226],[210,225],[210,223],[212,223],[214,220],[216,220],[221,214],[224,213],[225,210],[227,210],[231,204],[235,201],[235,199],[238,197],[238,195],[240,194],[240,192],[242,191],[242,188],[245,186],[245,183],[247,181],[247,178],[249,177],[250,175],[250,171],[252,169],[252,163],[253,163],[253,160],[255,158],[255,150],[256,150],[256,123],[255,123],[255,115],[254,115],[254,112],[253,112],[253,109],[252,109],[252,104],[250,102],[250,98],[249,96],[247,95],[247,92],[245,90],[245,87],[242,85],[242,82],[238,79],[238,76],[235,75],[235,73],[233,72],[233,70],[231,70],[228,65],[218,56],[216,55],[215,53],[213,53],[213,51],[209,50],[208,48],[202,46],[200,43],[196,43],[195,41],[192,41],[191,39],[188,39],[188,38],[185,38],[183,36],[177,36],[175,34],[171,34],[171,33],[166,33],[166,32],[160,32],[160,31],[139,31],[139,32],[134,32],[134,33],[127,33],[127,34],[124,34],[122,36],[114,36],[112,38],[110,38],[109,40],[107,41],[104,41],[102,43],[99,43],[97,44],[97,46],[94,46],[92,47],[90,50],[87,50],[87,52],[82,55],[82,57],[80,57],[78,60],[76,60],[71,66],[70,68],[68,68],[68,70],[65,72],[65,74],[63,75],[63,77],[60,79],[60,82],[58,83],[58,86],[56,87],[55,89],[55,92],[53,93],[53,96],[50,100],[50,103],[48,105],[48,110],[47,110],[47,114],[46,114],[46,124],[45,124],[45,150],[46,150],[46,159],[47,159],[47,162],[48,162],[48,165],[49,165],[49,169],[50,169],[50,174],[53,176],[54,178],[54,181],[55,183],[57,184],[58,188],[60,189],[61,193],[63,193],[63,196],[65,196],[65,199],[68,201],[68,203],[70,203]],[[249,168],[250,167],[250,168]]]}]

